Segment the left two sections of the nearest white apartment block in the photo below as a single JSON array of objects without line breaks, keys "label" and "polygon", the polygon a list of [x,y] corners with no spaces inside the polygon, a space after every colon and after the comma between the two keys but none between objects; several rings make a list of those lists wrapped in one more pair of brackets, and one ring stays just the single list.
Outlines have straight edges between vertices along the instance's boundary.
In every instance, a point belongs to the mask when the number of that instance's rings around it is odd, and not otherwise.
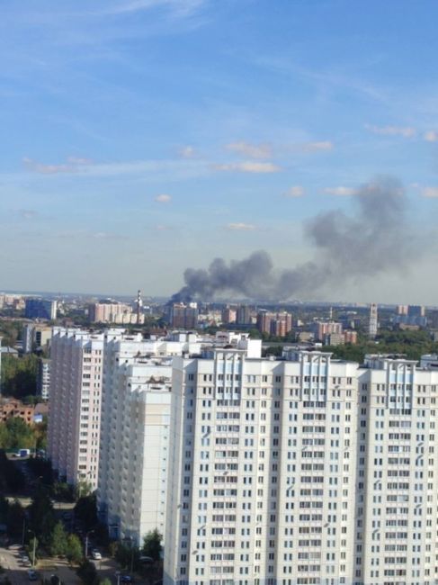
[{"label": "left two sections of the nearest white apartment block", "polygon": [[351,582],[356,367],[175,358],[166,585]]}]

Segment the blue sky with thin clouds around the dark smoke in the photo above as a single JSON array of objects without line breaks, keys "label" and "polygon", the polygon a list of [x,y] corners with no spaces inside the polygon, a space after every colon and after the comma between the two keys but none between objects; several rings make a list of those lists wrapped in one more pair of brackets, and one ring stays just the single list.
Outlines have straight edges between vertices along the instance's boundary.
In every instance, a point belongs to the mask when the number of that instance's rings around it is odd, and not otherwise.
[{"label": "blue sky with thin clouds around the dark smoke", "polygon": [[260,248],[288,268],[314,256],[303,223],[392,175],[424,252],[315,297],[436,304],[437,19],[432,0],[3,3],[1,286],[168,294]]}]

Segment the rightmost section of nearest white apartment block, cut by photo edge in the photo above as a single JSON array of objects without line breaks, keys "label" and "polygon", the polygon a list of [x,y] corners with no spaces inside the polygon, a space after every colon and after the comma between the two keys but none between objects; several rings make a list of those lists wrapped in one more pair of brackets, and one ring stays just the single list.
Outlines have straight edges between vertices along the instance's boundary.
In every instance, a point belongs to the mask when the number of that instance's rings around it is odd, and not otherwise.
[{"label": "rightmost section of nearest white apartment block, cut by photo edge", "polygon": [[355,582],[438,582],[438,372],[367,356],[358,370]]}]

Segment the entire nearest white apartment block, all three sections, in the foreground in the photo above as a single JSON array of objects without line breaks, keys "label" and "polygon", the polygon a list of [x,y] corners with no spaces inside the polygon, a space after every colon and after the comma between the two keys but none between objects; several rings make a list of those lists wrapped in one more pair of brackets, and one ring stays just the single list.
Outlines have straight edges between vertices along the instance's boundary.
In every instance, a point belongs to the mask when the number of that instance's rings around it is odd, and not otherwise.
[{"label": "entire nearest white apartment block, all three sections, in the foreground", "polygon": [[438,582],[438,373],[175,358],[165,585]]}]

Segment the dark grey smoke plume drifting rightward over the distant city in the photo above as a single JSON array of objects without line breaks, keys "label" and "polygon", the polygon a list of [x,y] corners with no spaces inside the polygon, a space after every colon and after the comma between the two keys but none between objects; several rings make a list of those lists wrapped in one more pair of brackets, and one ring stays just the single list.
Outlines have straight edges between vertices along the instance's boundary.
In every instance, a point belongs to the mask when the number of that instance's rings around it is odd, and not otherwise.
[{"label": "dark grey smoke plume drifting rightward over the distant city", "polygon": [[407,201],[397,180],[378,178],[353,195],[354,211],[326,211],[308,220],[304,234],[314,258],[278,270],[264,250],[243,260],[215,258],[207,269],[187,268],[173,300],[211,300],[223,293],[259,300],[314,296],[324,288],[406,267],[415,254],[407,225]]}]

